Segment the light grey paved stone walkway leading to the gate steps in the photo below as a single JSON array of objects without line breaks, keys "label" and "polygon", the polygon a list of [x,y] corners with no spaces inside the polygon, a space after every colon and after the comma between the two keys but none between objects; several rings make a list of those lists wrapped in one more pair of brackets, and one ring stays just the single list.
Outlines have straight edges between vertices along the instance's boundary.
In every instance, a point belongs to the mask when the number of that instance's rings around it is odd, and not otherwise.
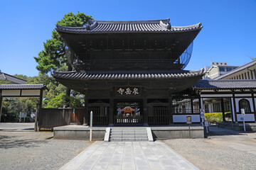
[{"label": "light grey paved stone walkway leading to the gate steps", "polygon": [[95,142],[62,170],[198,169],[164,142]]}]

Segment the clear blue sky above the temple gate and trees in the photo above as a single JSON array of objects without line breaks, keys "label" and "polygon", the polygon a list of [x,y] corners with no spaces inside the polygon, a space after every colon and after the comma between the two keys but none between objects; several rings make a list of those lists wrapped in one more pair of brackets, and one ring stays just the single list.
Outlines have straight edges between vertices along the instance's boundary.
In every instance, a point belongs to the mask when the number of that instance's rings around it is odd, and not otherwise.
[{"label": "clear blue sky above the temple gate and trees", "polygon": [[33,57],[43,50],[55,23],[70,11],[84,12],[96,20],[170,18],[172,26],[201,22],[203,29],[194,41],[189,70],[210,62],[240,66],[256,57],[256,0],[0,0],[1,71],[36,76]]}]

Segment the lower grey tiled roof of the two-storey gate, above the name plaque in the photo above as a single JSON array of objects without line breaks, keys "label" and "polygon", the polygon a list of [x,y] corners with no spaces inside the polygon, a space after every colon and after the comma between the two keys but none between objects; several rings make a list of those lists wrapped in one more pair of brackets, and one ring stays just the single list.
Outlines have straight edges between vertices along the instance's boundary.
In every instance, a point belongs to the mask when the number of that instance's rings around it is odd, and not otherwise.
[{"label": "lower grey tiled roof of the two-storey gate, above the name plaque", "polygon": [[178,79],[203,76],[203,69],[176,72],[53,72],[61,79]]}]

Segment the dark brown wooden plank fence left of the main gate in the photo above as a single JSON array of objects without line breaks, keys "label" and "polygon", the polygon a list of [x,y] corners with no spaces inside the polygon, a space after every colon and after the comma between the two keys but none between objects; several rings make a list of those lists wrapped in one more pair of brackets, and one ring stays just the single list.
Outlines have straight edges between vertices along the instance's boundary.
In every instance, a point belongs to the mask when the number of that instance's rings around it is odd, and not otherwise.
[{"label": "dark brown wooden plank fence left of the main gate", "polygon": [[83,123],[85,108],[41,108],[38,116],[38,128],[53,129],[70,123]]}]

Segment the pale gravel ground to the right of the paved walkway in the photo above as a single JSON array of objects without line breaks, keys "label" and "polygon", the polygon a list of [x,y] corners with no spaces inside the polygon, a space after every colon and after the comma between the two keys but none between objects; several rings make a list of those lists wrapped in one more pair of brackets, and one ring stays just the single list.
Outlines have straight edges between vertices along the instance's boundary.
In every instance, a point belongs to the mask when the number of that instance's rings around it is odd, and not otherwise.
[{"label": "pale gravel ground to the right of the paved walkway", "polygon": [[[230,139],[232,137],[235,140]],[[164,142],[199,169],[256,169],[256,133],[247,135],[249,139],[238,140],[238,137],[217,136]]]}]

